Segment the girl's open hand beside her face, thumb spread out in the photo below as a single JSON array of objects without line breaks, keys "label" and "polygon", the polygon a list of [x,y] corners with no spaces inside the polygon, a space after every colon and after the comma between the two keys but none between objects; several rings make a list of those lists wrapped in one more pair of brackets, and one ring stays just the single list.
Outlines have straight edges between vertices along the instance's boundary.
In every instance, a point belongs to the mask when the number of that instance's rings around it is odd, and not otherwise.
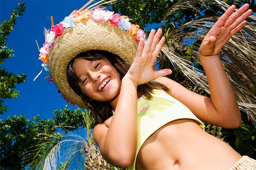
[{"label": "girl's open hand beside her face, thumb spread out", "polygon": [[158,57],[165,41],[164,37],[160,39],[161,35],[162,29],[158,29],[156,33],[155,30],[152,29],[145,45],[144,40],[139,41],[136,57],[126,74],[126,76],[129,76],[137,85],[147,83],[159,76],[172,73],[170,69],[159,71],[152,69],[155,59]]}]

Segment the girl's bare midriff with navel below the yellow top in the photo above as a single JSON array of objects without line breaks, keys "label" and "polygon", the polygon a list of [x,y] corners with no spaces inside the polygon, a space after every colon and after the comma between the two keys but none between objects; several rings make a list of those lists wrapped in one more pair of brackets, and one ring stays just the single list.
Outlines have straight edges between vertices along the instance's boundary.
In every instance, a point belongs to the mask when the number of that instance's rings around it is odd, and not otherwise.
[{"label": "girl's bare midriff with navel below the yellow top", "polygon": [[144,142],[136,169],[229,169],[241,155],[193,120],[172,121]]}]

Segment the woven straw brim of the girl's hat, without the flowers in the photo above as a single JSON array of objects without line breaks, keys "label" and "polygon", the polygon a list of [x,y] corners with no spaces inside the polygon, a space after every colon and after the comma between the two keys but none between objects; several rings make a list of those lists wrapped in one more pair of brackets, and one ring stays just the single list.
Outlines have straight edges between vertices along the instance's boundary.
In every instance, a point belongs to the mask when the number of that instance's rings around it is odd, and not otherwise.
[{"label": "woven straw brim of the girl's hat, without the flowers", "polygon": [[135,57],[138,42],[127,31],[122,31],[109,22],[76,23],[57,36],[48,54],[48,66],[52,79],[68,100],[86,108],[84,101],[69,86],[66,68],[72,58],[88,50],[105,50],[131,63]]}]

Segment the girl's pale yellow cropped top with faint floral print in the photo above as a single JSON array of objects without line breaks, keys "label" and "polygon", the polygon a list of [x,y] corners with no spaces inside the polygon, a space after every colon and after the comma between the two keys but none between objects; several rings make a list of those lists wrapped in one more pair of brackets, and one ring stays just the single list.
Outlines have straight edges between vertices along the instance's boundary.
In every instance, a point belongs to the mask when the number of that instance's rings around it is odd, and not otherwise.
[{"label": "girl's pale yellow cropped top with faint floral print", "polygon": [[137,102],[137,114],[137,150],[130,169],[135,169],[138,152],[147,138],[168,122],[188,118],[196,120],[201,128],[204,129],[205,127],[204,123],[185,107],[184,104],[162,90],[154,90],[151,100],[147,100],[142,96]]}]

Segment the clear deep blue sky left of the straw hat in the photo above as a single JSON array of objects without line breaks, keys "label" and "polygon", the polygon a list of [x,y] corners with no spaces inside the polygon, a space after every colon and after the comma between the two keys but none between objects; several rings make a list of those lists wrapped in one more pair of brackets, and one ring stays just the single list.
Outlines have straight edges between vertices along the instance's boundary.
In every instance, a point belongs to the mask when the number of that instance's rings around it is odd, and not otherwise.
[{"label": "clear deep blue sky left of the straw hat", "polygon": [[[39,50],[35,40],[41,47],[44,43],[44,27],[51,28],[50,16],[54,17],[55,24],[61,22],[73,10],[79,9],[87,0],[23,0],[26,3],[26,11],[23,16],[16,19],[14,31],[7,37],[7,46],[14,49],[14,58],[6,59],[1,65],[10,73],[26,74],[25,83],[18,84],[20,96],[15,99],[7,99],[4,105],[9,110],[0,115],[5,120],[7,116],[25,114],[26,118],[32,118],[40,114],[40,118],[52,118],[55,109],[63,109],[67,105],[53,82],[44,80],[48,72],[43,71],[38,79],[33,82],[35,76],[42,69],[38,59]],[[9,19],[11,11],[18,6],[18,0],[0,0],[0,20]],[[68,105],[69,109],[74,109]]]}]

